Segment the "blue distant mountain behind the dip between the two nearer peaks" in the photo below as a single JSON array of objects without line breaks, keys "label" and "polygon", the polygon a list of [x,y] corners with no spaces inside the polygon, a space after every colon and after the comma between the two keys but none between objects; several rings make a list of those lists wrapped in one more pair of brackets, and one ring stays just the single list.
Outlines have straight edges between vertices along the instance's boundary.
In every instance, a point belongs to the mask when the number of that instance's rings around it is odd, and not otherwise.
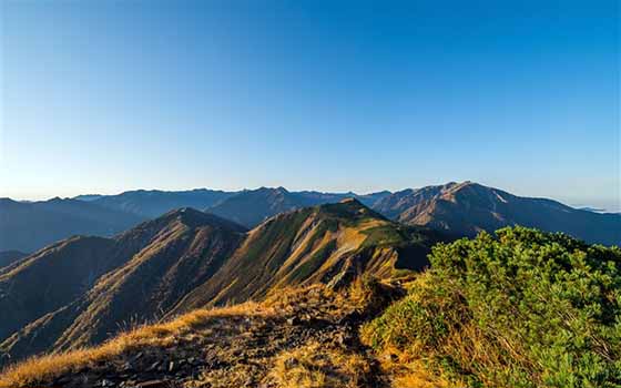
[{"label": "blue distant mountain behind the dip between the two nearer peaks", "polygon": [[220,204],[206,208],[206,211],[224,218],[235,221],[247,227],[255,227],[276,214],[296,208],[338,203],[348,197],[354,197],[363,203],[371,205],[389,194],[389,192],[366,195],[357,195],[355,193],[320,193],[313,191],[289,192],[284,187],[261,187],[240,192]]}]

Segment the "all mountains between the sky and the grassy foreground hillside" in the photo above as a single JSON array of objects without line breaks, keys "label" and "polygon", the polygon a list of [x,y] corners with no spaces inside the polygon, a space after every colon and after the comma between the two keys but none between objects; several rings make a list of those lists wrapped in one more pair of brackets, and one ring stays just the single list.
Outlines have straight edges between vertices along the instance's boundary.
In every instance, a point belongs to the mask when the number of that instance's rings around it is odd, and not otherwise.
[{"label": "all mountains between the sky and the grassy foreground hillside", "polygon": [[406,276],[429,265],[438,242],[508,225],[621,242],[618,214],[472,182],[369,195],[262,187],[4,198],[0,215],[2,248],[13,249],[0,253],[0,310],[11,312],[0,320],[0,364],[292,287]]}]

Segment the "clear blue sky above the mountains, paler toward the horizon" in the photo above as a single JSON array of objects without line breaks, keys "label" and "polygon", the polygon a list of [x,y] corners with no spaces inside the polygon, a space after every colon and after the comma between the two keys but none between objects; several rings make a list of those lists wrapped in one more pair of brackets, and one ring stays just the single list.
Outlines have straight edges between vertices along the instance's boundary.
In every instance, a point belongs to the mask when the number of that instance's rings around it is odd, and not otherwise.
[{"label": "clear blue sky above the mountains, paler toward the horizon", "polygon": [[619,210],[619,6],[2,1],[0,196],[471,180]]}]

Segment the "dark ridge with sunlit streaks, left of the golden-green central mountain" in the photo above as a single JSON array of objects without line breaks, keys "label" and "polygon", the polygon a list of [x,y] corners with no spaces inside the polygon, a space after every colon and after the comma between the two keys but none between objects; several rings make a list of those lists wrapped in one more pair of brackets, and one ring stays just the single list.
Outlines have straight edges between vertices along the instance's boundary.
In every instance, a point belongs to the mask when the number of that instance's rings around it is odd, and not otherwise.
[{"label": "dark ridge with sunlit streaks, left of the golden-green central mountain", "polygon": [[30,323],[0,345],[0,350],[20,358],[48,348],[96,344],[119,331],[123,321],[153,319],[208,279],[244,232],[214,215],[182,208],[113,239],[102,239],[106,246],[98,254],[115,257],[114,268],[82,294],[45,304],[49,313],[30,312]]}]

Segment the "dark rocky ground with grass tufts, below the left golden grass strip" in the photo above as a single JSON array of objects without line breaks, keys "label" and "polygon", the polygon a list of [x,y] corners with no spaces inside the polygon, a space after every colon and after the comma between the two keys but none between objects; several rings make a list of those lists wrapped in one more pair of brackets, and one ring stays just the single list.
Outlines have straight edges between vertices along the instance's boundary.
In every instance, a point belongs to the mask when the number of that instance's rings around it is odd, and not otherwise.
[{"label": "dark rocky ground with grass tufts, below the left golden grass strip", "polygon": [[214,317],[155,345],[27,386],[381,387],[386,381],[370,349],[359,343],[358,327],[384,302],[369,303],[368,295],[354,299],[325,287],[283,294],[262,305],[275,314]]}]

